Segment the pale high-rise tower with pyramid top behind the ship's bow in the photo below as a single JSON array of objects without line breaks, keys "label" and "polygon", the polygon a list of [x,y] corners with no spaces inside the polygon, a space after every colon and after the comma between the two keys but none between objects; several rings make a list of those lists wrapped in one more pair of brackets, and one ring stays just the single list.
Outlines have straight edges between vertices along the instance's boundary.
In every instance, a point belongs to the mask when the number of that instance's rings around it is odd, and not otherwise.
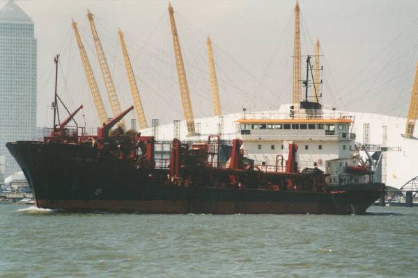
[{"label": "pale high-rise tower with pyramid top behind the ship's bow", "polygon": [[[15,1],[0,8],[0,180],[20,170],[6,142],[36,132],[36,38],[33,22]],[[1,177],[3,175],[3,177]]]}]

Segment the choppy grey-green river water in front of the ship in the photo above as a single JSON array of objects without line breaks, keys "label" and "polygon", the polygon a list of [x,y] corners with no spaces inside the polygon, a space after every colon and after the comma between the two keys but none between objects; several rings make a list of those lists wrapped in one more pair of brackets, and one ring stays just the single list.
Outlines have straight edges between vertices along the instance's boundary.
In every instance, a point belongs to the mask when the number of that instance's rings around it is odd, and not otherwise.
[{"label": "choppy grey-green river water in front of the ship", "polygon": [[418,277],[418,208],[60,213],[0,205],[0,277]]}]

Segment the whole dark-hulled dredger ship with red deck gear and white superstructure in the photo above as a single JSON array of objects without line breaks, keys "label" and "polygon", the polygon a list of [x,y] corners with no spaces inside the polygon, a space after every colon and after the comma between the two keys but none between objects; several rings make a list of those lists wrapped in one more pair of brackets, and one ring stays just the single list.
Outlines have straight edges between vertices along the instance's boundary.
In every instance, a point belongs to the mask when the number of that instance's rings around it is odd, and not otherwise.
[{"label": "whole dark-hulled dredger ship with red deck gear and white superstructure", "polygon": [[[56,97],[53,107],[55,115]],[[216,135],[206,142],[174,138],[167,160],[155,158],[153,136],[116,126],[133,106],[104,122],[94,136],[69,125],[81,108],[59,124],[54,116],[54,126],[42,141],[6,144],[39,208],[361,214],[385,188],[376,161],[353,155],[353,119],[326,113],[308,96],[286,115],[244,114],[231,144]],[[258,163],[261,152],[275,156],[274,164]]]}]

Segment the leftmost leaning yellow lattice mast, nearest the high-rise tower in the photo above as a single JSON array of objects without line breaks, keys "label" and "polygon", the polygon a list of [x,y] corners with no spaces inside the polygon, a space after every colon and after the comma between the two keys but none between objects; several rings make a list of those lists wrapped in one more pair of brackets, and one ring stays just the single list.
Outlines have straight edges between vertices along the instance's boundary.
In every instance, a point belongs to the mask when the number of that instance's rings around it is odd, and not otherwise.
[{"label": "leftmost leaning yellow lattice mast, nearest the high-rise tower", "polygon": [[98,83],[96,82],[93,74],[93,70],[91,69],[90,61],[88,60],[86,49],[84,48],[84,44],[82,42],[82,38],[80,37],[77,23],[72,20],[72,28],[74,29],[75,39],[77,40],[77,44],[80,51],[80,56],[82,58],[82,63],[84,67],[84,72],[86,73],[86,78],[88,81],[88,86],[91,90],[91,95],[93,96],[93,102],[96,111],[98,112],[100,124],[104,124],[107,122],[107,115],[106,110],[104,110],[104,104],[102,101],[102,96],[100,95],[100,91],[98,88]]}]

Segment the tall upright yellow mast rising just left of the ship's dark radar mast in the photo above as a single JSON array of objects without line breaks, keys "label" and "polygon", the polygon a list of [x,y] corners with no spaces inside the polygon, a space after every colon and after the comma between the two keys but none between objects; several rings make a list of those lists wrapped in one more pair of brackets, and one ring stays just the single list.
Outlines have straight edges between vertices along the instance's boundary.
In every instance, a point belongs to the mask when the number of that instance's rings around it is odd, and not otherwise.
[{"label": "tall upright yellow mast rising just left of the ship's dark radar mast", "polygon": [[300,57],[300,8],[299,2],[296,1],[295,6],[295,33],[293,38],[293,105],[300,105],[300,80],[301,80],[301,57]]}]

